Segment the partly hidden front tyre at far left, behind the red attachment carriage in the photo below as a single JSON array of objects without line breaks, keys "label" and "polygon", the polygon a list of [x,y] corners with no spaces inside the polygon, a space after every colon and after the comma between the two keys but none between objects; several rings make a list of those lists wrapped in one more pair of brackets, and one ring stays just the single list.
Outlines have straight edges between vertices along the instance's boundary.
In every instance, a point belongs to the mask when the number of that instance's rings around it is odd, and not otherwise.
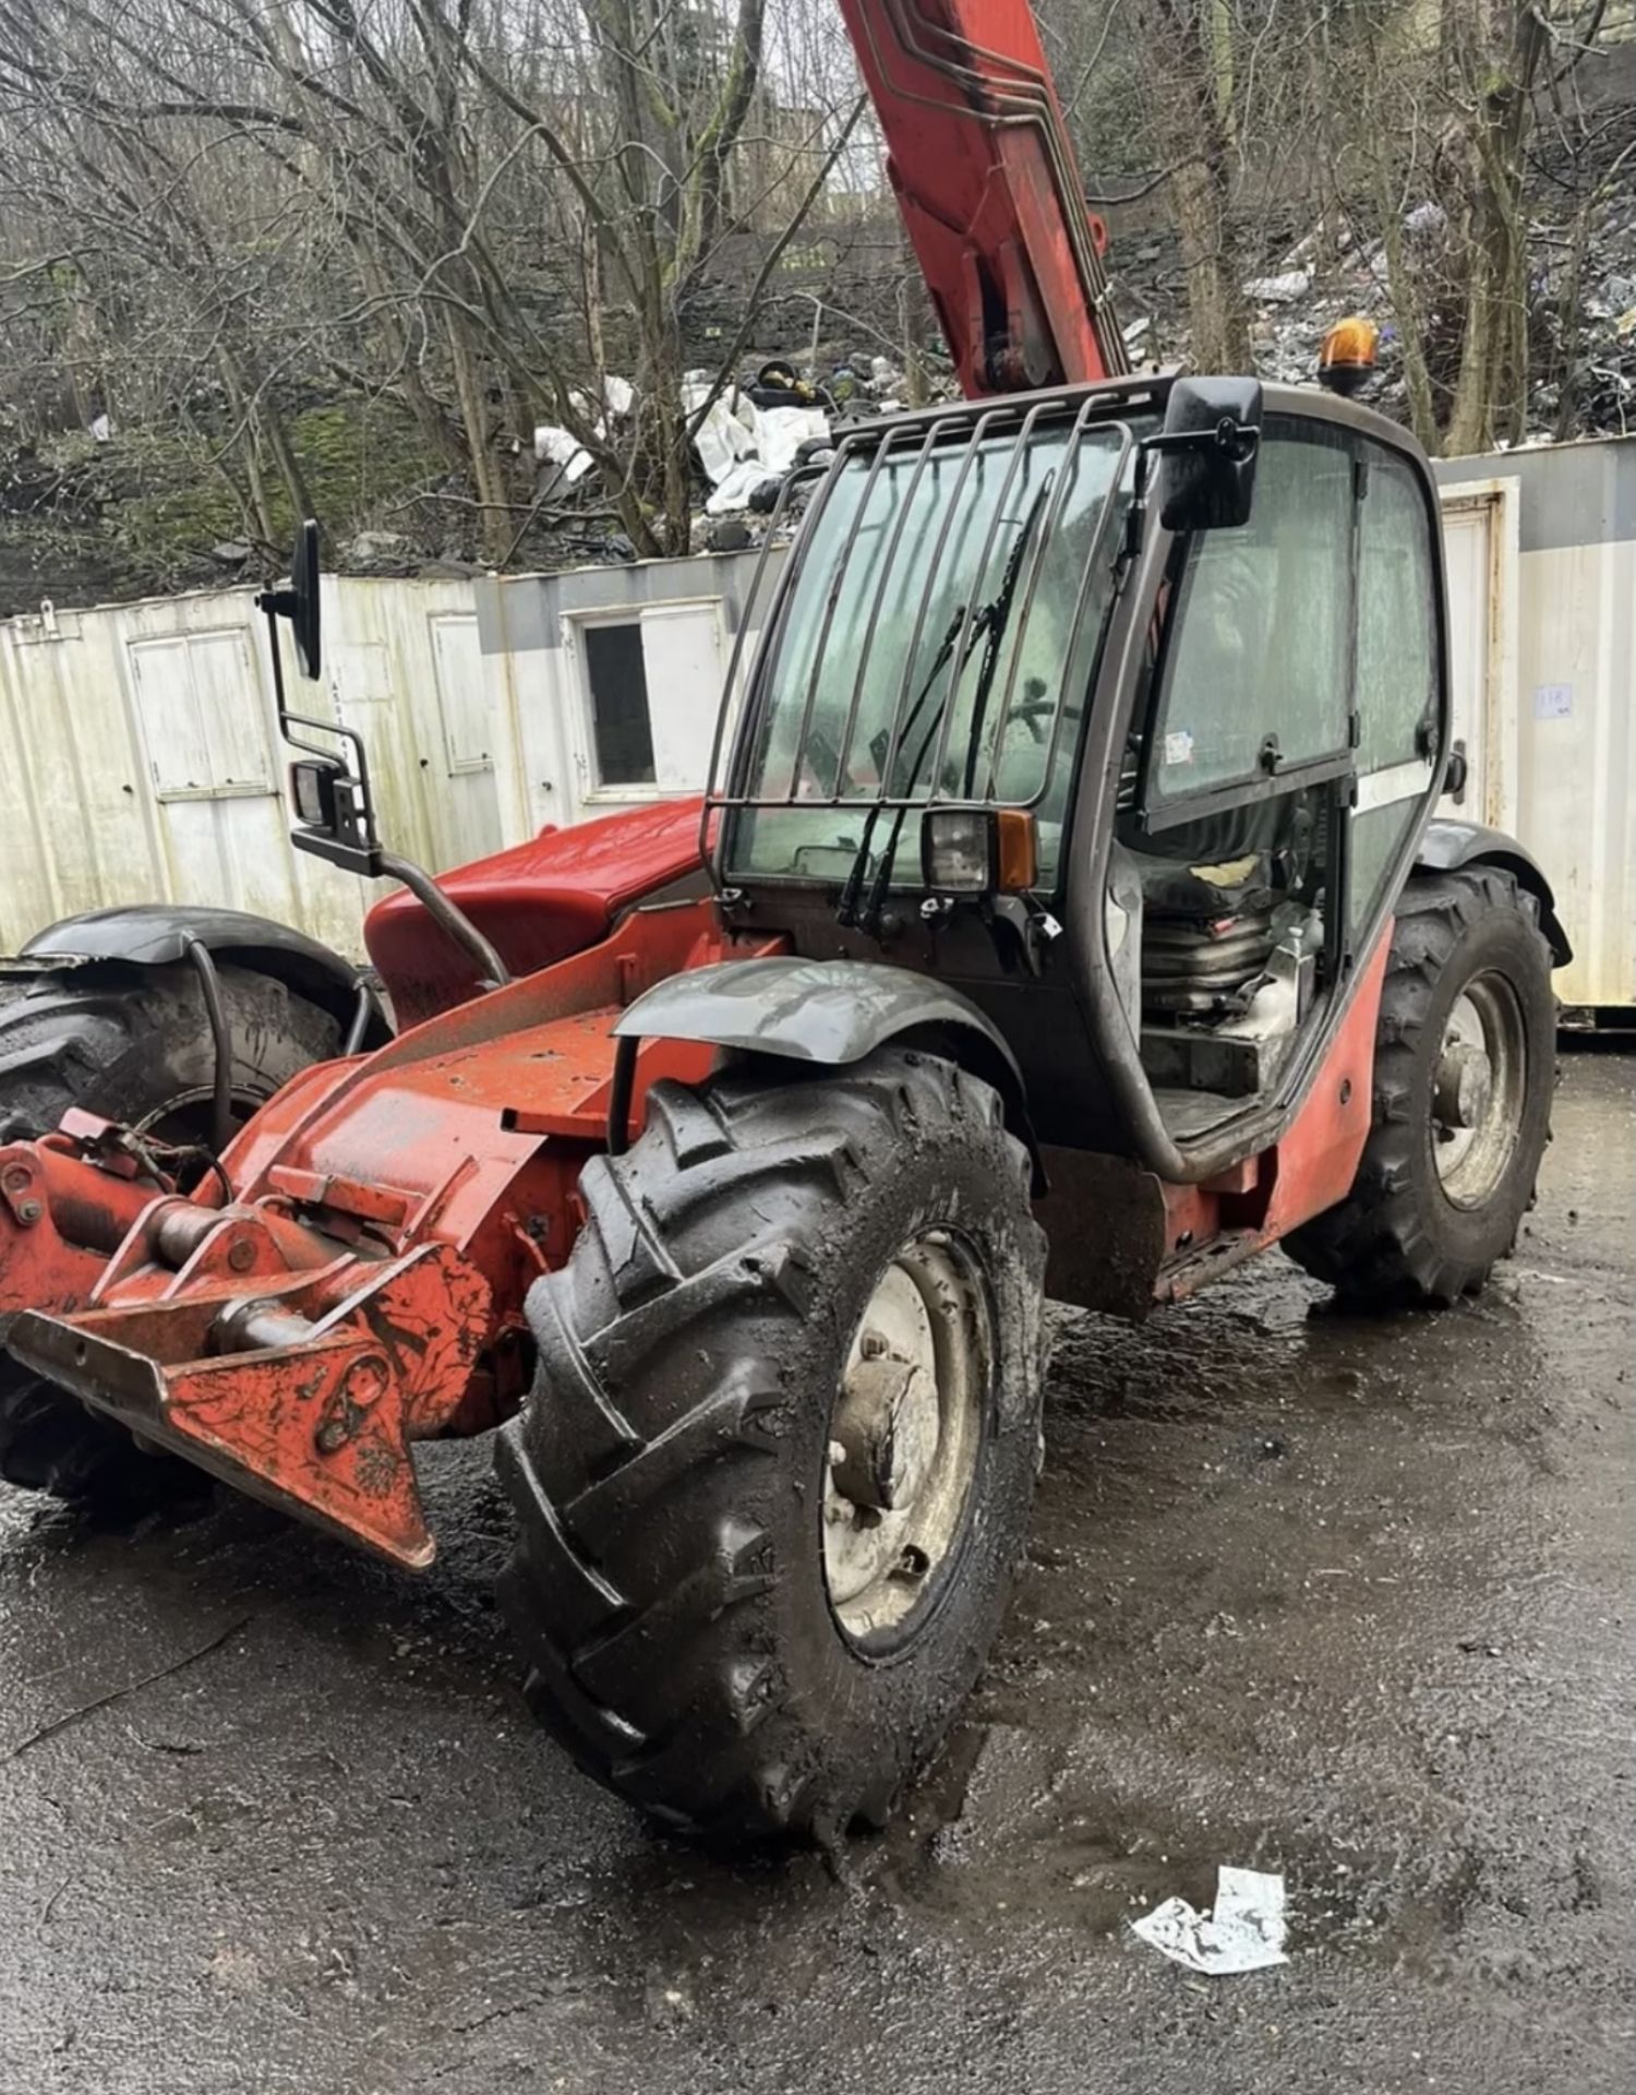
[{"label": "partly hidden front tyre at far left, behind the red attachment carriage", "polygon": [[[302,1068],[339,1054],[337,1020],[264,974],[220,968],[243,1119]],[[191,968],[65,968],[0,980],[0,1140],[48,1133],[69,1106],[163,1142],[205,1142],[214,1045]],[[0,1479],[140,1513],[199,1498],[191,1462],[145,1454],[124,1427],[0,1351]]]}]

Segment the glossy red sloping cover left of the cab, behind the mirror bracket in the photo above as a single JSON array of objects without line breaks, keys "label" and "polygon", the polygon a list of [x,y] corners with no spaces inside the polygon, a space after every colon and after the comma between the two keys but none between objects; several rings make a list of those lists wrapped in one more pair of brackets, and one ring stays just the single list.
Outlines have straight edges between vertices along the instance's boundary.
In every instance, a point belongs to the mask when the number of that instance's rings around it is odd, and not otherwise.
[{"label": "glossy red sloping cover left of the cab, behind the mirror bracket", "polygon": [[[700,800],[633,807],[476,859],[438,886],[492,941],[513,974],[534,974],[607,936],[643,895],[702,869]],[[478,970],[408,888],[364,918],[364,945],[398,1027],[417,1027],[478,993]]]}]

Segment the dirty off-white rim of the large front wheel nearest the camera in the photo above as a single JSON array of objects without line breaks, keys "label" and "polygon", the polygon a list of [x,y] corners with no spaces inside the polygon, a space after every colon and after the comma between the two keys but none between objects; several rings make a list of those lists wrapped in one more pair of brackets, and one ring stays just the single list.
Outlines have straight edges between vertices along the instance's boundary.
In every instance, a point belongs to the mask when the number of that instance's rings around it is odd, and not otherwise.
[{"label": "dirty off-white rim of the large front wheel nearest the camera", "polygon": [[972,1253],[907,1242],[846,1353],[823,1471],[823,1580],[853,1642],[903,1634],[966,1527],[993,1335]]}]

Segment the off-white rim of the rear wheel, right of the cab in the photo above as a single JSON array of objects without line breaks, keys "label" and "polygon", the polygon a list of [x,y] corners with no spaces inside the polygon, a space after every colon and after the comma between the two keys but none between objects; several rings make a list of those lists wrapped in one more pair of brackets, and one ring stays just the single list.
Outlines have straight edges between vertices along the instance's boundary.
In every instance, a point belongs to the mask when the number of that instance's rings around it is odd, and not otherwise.
[{"label": "off-white rim of the rear wheel, right of the cab", "polygon": [[1517,993],[1502,974],[1466,983],[1443,1027],[1431,1079],[1431,1154],[1454,1207],[1483,1207],[1517,1152],[1527,1045]]}]

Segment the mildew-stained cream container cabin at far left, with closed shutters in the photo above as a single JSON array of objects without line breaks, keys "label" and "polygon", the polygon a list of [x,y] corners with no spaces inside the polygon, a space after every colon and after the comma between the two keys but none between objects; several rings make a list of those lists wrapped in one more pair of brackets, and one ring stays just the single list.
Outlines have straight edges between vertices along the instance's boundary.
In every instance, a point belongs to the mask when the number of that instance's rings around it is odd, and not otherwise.
[{"label": "mildew-stained cream container cabin at far left, with closed shutters", "polygon": [[[434,867],[494,851],[471,585],[327,578],[323,618],[320,683],[285,643],[289,702],[367,735],[385,836]],[[0,951],[128,901],[249,909],[362,951],[373,890],[289,842],[253,591],[0,622]]]}]

